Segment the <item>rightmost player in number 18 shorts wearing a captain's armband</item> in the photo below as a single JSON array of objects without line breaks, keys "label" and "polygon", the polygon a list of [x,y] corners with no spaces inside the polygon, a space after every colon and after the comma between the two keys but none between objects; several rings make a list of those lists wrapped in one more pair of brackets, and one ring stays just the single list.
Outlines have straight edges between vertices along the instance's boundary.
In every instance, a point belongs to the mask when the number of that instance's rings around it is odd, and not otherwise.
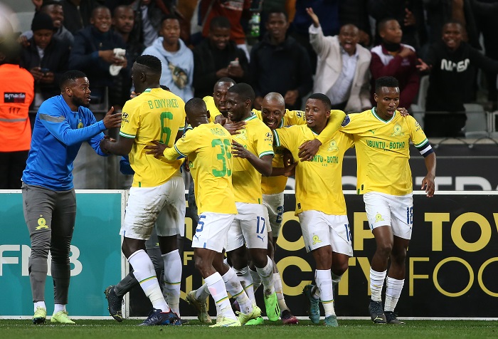
[{"label": "rightmost player in number 18 shorts wearing a captain's armband", "polygon": [[[406,250],[413,226],[413,184],[408,159],[410,140],[423,155],[427,175],[421,189],[434,195],[435,153],[418,122],[399,114],[398,80],[376,80],[376,107],[351,114],[342,131],[354,135],[358,165],[357,191],[364,194],[377,249],[371,261],[369,311],[374,323],[403,324],[394,308],[403,289]],[[387,272],[388,261],[391,266]],[[386,279],[386,303],[382,305],[382,288]]]}]

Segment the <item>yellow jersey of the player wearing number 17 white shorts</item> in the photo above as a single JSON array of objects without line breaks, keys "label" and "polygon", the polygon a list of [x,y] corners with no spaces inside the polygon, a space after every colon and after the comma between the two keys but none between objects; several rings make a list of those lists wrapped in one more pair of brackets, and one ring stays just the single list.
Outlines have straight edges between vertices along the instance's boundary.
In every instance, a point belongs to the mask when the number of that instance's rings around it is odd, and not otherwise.
[{"label": "yellow jersey of the player wearing number 17 white shorts", "polygon": [[[247,125],[243,130],[240,130],[240,133],[233,135],[233,140],[243,145],[256,157],[275,155],[270,128],[256,115],[251,115],[244,121]],[[261,204],[263,202],[261,177],[261,173],[250,164],[249,160],[236,157],[233,160],[232,179],[235,202]]]}]

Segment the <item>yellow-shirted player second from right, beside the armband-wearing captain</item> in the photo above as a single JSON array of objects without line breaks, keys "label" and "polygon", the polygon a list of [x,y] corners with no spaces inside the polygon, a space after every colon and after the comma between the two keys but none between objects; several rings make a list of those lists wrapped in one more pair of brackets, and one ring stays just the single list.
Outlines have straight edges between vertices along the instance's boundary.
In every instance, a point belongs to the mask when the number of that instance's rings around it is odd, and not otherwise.
[{"label": "yellow-shirted player second from right, beside the armband-wearing captain", "polygon": [[[337,131],[345,115],[341,110],[331,113],[331,107],[327,95],[310,95],[306,101],[307,125],[273,130],[275,145],[287,148],[293,157],[298,157],[300,145],[320,135],[331,114],[331,125]],[[296,215],[300,219],[306,250],[312,253],[317,267],[317,286],[305,286],[304,294],[309,301],[309,318],[313,323],[319,323],[318,301],[322,301],[326,326],[338,325],[333,282],[346,271],[349,257],[353,255],[341,182],[344,152],[352,145],[351,137],[335,132],[332,140],[321,145],[311,161],[299,162],[295,167]]]}]

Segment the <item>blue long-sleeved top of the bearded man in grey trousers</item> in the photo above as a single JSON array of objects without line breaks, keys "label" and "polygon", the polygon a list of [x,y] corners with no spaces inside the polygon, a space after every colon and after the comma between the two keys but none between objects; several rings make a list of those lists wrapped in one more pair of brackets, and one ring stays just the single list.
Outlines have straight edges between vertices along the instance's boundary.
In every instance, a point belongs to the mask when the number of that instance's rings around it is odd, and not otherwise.
[{"label": "blue long-sleeved top of the bearded man in grey trousers", "polygon": [[45,100],[36,113],[26,170],[26,184],[65,191],[73,186],[73,162],[81,144],[87,141],[98,155],[105,125],[92,111],[80,106],[70,110],[62,95]]}]

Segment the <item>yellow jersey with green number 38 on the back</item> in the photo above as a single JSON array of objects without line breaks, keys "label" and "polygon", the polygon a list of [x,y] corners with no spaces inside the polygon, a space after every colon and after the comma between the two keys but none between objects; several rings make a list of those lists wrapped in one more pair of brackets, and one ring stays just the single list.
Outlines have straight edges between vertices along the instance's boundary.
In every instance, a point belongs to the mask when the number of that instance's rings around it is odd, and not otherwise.
[{"label": "yellow jersey with green number 38 on the back", "polygon": [[189,157],[198,214],[237,214],[232,186],[232,136],[223,126],[213,122],[198,125],[173,148],[166,149],[164,157]]}]

